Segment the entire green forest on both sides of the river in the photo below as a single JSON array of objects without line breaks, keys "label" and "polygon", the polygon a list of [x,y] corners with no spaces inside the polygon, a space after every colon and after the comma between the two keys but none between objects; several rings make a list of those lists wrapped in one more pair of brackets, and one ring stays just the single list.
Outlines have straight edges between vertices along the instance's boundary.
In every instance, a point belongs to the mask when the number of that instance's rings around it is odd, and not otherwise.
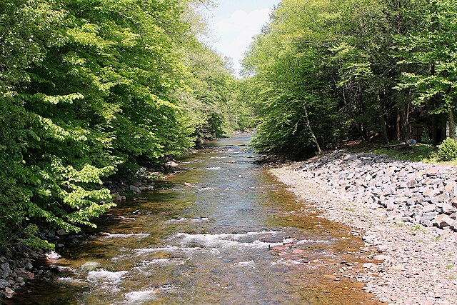
[{"label": "entire green forest on both sides of the river", "polygon": [[78,232],[114,205],[106,179],[227,131],[304,157],[455,129],[455,1],[283,0],[242,79],[199,39],[211,5],[1,2],[0,252],[51,249],[41,228]]}]

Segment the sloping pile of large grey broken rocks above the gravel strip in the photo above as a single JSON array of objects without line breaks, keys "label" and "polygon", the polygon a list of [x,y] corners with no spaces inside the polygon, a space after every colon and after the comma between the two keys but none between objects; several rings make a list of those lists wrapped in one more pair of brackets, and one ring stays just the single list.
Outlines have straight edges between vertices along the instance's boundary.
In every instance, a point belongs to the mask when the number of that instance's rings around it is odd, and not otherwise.
[{"label": "sloping pile of large grey broken rocks above the gravel strip", "polygon": [[457,168],[333,151],[298,169],[321,187],[388,216],[457,231]]}]

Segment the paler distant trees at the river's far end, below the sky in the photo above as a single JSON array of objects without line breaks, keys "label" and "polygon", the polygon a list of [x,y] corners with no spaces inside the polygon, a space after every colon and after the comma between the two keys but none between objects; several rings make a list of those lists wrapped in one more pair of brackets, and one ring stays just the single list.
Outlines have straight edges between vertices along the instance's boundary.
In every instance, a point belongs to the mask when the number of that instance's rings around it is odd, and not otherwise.
[{"label": "paler distant trees at the river's far end, below the sky", "polygon": [[188,72],[183,79],[186,86],[172,96],[179,101],[194,139],[218,138],[227,130],[244,128],[241,118],[248,116],[250,109],[238,99],[238,80],[229,64],[196,41],[180,51]]}]

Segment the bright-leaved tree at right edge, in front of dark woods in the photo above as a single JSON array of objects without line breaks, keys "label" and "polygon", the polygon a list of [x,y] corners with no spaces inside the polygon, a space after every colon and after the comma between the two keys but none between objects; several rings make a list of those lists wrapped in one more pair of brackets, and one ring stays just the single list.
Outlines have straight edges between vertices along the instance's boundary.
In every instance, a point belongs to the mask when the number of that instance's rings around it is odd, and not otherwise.
[{"label": "bright-leaved tree at right edge, in front of dark woods", "polygon": [[[416,67],[403,71],[398,90],[411,90],[413,103],[431,114],[448,114],[453,126],[456,96],[457,4],[430,0],[410,11],[418,21],[407,35],[398,36],[401,64]],[[434,136],[434,134],[433,134]],[[450,136],[454,138],[454,133]]]}]

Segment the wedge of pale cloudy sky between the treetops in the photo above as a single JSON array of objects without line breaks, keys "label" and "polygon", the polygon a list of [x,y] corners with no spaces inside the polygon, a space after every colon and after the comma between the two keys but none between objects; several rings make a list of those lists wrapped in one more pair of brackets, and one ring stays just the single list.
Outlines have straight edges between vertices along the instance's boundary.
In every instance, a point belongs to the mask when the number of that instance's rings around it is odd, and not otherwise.
[{"label": "wedge of pale cloudy sky between the treetops", "polygon": [[252,37],[260,34],[268,22],[273,6],[280,0],[216,0],[217,7],[205,10],[209,27],[214,36],[211,44],[224,56],[233,59],[238,75],[243,53]]}]

